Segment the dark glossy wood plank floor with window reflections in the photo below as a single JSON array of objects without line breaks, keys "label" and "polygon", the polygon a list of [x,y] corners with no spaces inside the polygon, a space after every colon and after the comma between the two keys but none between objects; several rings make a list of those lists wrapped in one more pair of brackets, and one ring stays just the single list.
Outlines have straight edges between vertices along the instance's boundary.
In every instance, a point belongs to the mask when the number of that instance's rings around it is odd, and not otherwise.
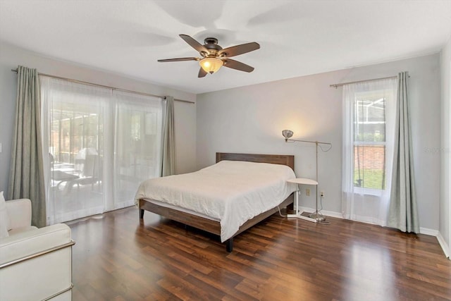
[{"label": "dark glossy wood plank floor with window reflections", "polygon": [[435,237],[278,214],[235,238],[135,207],[70,223],[73,300],[451,300]]}]

